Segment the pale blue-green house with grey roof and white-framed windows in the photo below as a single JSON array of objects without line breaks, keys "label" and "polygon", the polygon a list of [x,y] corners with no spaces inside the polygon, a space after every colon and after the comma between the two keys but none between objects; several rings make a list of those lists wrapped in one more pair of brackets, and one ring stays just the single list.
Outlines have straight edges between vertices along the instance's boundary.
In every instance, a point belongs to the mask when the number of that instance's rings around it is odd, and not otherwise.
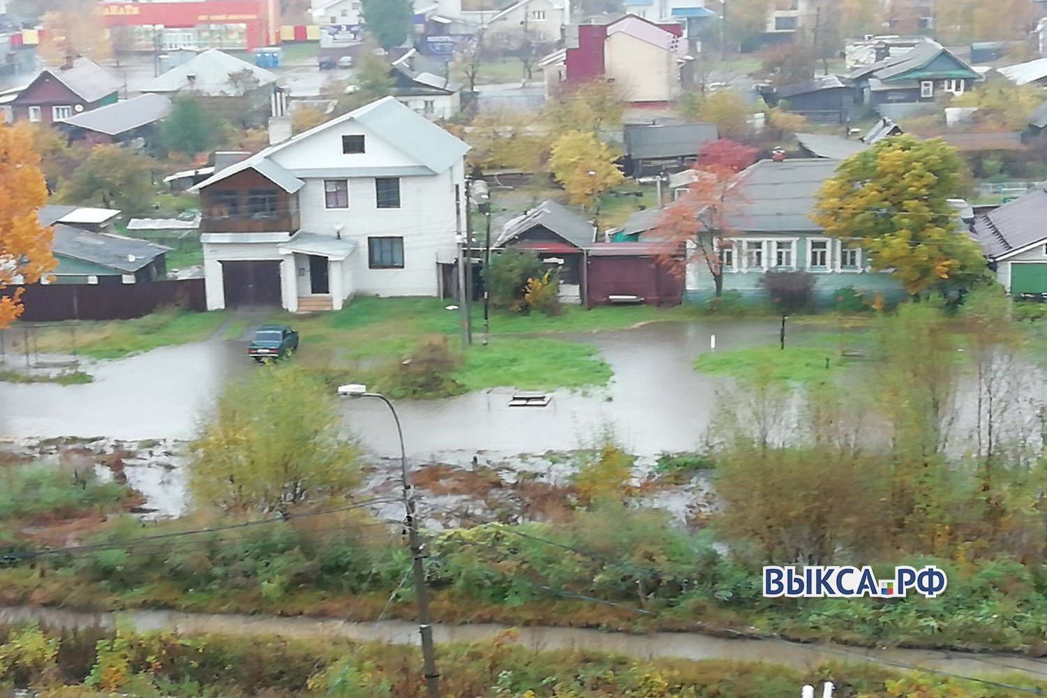
[{"label": "pale blue-green house with grey roof and white-framed windows", "polygon": [[[737,176],[725,217],[731,231],[722,248],[725,291],[760,300],[767,271],[806,271],[815,274],[815,294],[824,303],[848,286],[891,300],[905,295],[889,273],[869,269],[860,248],[827,238],[810,219],[819,188],[839,165],[829,159],[760,160]],[[639,211],[625,228],[641,242],[653,240],[659,221],[650,210]],[[708,299],[715,295],[713,276],[700,258],[689,256],[685,298]]]}]

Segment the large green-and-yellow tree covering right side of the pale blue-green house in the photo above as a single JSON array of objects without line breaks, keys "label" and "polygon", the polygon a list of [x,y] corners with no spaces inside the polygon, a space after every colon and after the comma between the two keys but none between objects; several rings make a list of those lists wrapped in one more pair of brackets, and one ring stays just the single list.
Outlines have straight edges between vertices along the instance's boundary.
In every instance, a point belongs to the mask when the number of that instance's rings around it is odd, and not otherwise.
[{"label": "large green-and-yellow tree covering right side of the pale blue-green house", "polygon": [[949,199],[963,160],[940,138],[887,138],[844,160],[818,193],[812,220],[874,271],[891,270],[913,296],[968,288],[985,276],[979,245]]}]

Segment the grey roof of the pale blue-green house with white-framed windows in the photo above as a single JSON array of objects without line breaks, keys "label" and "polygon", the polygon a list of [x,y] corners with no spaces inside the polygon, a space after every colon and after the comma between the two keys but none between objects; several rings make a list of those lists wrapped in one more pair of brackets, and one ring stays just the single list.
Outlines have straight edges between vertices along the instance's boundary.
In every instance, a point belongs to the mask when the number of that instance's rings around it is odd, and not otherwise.
[{"label": "grey roof of the pale blue-green house with white-framed windows", "polygon": [[839,160],[760,160],[737,176],[739,193],[726,224],[743,232],[817,232],[816,194]]}]

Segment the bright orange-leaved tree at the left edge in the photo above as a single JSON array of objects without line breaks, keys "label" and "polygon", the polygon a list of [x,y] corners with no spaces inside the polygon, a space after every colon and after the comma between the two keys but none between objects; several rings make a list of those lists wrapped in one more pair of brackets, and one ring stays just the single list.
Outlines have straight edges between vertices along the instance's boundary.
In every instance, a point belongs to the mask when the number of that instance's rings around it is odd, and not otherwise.
[{"label": "bright orange-leaved tree at the left edge", "polygon": [[[47,185],[32,134],[25,127],[0,127],[0,293],[14,283],[36,284],[53,269],[51,228],[37,209],[47,203]],[[22,314],[22,290],[0,297],[0,328]]]}]

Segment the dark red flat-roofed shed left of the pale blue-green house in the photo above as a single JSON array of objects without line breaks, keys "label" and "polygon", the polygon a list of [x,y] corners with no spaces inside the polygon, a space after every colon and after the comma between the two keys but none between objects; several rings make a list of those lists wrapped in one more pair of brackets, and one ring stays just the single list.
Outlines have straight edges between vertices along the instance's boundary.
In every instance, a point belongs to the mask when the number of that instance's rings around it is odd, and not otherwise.
[{"label": "dark red flat-roofed shed left of the pale blue-green house", "polygon": [[586,264],[589,308],[683,301],[684,255],[665,243],[597,243],[587,250]]}]

